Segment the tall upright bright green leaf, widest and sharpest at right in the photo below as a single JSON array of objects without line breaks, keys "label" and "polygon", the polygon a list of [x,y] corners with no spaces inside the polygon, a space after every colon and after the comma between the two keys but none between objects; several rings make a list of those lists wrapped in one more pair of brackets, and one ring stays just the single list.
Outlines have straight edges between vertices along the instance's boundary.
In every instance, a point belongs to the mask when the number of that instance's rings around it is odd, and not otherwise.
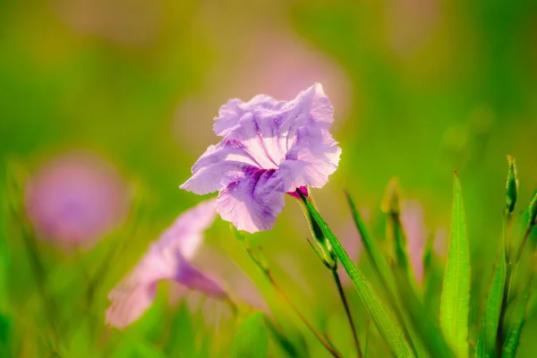
[{"label": "tall upright bright green leaf, widest and sharpest at right", "polygon": [[440,327],[457,356],[465,358],[468,356],[470,257],[461,183],[456,173],[454,178],[451,235],[440,298]]}]

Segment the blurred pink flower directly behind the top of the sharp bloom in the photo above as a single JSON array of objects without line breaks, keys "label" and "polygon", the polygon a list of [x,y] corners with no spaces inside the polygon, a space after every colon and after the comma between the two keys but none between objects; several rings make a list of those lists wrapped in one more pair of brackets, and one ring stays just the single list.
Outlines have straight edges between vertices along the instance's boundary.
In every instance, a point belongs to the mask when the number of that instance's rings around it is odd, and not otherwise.
[{"label": "blurred pink flower directly behind the top of the sharp bloom", "polygon": [[270,93],[289,99],[320,82],[342,124],[352,107],[352,85],[344,68],[326,53],[311,47],[291,30],[260,32],[244,48],[239,75],[232,81],[238,96]]}]

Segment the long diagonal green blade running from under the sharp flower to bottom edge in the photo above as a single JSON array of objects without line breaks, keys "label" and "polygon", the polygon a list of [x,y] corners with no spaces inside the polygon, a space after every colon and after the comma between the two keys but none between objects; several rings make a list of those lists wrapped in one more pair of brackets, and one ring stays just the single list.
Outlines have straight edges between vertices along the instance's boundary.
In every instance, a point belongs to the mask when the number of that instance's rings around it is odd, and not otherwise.
[{"label": "long diagonal green blade running from under the sharp flower to bottom edge", "polygon": [[362,272],[356,265],[354,265],[353,260],[349,258],[345,249],[341,243],[339,243],[339,240],[337,240],[336,235],[332,233],[332,230],[330,230],[327,223],[320,217],[320,214],[313,208],[311,203],[303,196],[303,193],[300,190],[297,190],[297,193],[311,213],[311,217],[315,219],[323,234],[325,234],[334,248],[334,251],[336,251],[337,258],[341,261],[347,274],[353,280],[358,294],[360,294],[367,311],[369,311],[371,315],[371,319],[375,322],[377,328],[379,328],[380,334],[388,343],[393,354],[397,357],[413,357],[414,354],[412,349],[410,348],[410,345],[408,345],[408,342],[406,342],[401,328],[397,325],[396,321],[392,319],[384,304],[379,301],[376,294],[373,292],[371,285],[367,282],[365,277],[363,277]]}]

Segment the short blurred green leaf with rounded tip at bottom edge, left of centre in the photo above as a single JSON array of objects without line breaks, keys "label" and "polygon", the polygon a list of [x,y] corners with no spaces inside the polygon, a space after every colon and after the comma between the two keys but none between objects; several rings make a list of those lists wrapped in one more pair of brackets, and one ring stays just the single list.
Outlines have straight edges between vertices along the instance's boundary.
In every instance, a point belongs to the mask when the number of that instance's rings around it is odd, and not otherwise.
[{"label": "short blurred green leaf with rounded tip at bottom edge, left of centre", "polygon": [[268,332],[262,312],[251,313],[243,320],[231,346],[233,358],[268,357]]}]

